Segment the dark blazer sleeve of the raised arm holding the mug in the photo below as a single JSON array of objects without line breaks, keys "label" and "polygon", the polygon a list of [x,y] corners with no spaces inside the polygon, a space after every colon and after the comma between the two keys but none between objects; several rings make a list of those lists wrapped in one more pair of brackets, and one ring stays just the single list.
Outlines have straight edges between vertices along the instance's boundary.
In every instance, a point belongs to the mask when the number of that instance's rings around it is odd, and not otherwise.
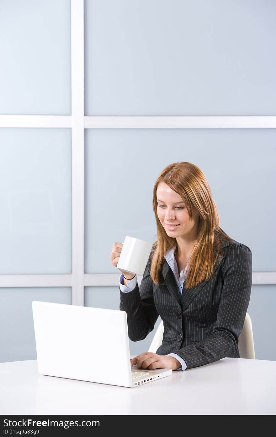
[{"label": "dark blazer sleeve of the raised arm holding the mug", "polygon": [[143,279],[133,291],[123,293],[120,290],[120,310],[126,311],[129,338],[132,341],[143,340],[150,333],[158,318],[153,301],[153,282],[150,277],[151,259],[148,260]]}]

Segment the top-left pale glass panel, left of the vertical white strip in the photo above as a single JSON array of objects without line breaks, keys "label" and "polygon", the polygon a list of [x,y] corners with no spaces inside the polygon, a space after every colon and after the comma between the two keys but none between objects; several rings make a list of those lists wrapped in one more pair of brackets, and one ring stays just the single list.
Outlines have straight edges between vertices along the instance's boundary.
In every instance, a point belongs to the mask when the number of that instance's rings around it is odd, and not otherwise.
[{"label": "top-left pale glass panel, left of the vertical white strip", "polygon": [[1,0],[0,114],[71,114],[70,0]]}]

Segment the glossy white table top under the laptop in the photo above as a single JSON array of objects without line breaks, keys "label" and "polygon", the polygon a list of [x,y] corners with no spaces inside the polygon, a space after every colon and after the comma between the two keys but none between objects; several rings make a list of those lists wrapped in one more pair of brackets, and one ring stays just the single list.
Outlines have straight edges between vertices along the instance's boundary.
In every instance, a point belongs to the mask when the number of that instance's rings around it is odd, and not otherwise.
[{"label": "glossy white table top under the laptop", "polygon": [[135,388],[39,375],[0,363],[0,414],[276,414],[276,361],[224,358]]}]

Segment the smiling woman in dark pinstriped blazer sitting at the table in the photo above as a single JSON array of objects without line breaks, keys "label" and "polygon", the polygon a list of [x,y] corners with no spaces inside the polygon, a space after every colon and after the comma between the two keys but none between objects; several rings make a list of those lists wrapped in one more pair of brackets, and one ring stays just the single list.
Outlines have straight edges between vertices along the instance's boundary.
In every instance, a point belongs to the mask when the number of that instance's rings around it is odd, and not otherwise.
[{"label": "smiling woman in dark pinstriped blazer sitting at the table", "polygon": [[[239,357],[238,341],[249,305],[252,253],[228,237],[204,173],[188,162],[168,165],[153,189],[157,241],[138,287],[122,272],[120,309],[129,338],[143,340],[160,315],[164,336],[157,353],[131,360],[137,368],[194,368]],[[123,245],[114,243],[116,267]]]}]

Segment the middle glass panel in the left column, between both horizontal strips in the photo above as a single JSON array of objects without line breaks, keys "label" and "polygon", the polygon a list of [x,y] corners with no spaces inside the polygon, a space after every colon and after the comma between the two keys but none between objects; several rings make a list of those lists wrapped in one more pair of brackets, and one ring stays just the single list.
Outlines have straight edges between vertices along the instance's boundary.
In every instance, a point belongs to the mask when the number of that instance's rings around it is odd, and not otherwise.
[{"label": "middle glass panel in the left column, between both horizontal strips", "polygon": [[71,130],[0,129],[0,274],[71,273]]}]

